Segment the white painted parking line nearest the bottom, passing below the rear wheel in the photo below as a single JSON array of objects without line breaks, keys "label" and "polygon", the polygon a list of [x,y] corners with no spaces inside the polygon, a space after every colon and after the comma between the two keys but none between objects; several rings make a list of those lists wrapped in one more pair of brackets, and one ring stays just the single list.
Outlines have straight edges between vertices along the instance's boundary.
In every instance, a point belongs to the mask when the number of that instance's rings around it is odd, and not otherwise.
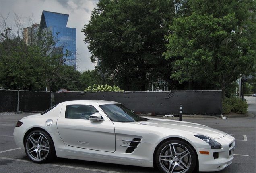
[{"label": "white painted parking line nearest the bottom, passing below the rear wheel", "polygon": [[[33,163],[32,161],[26,161],[26,160],[21,160],[21,159],[12,159],[12,158],[7,158],[7,157],[0,157],[0,159],[12,160],[12,161],[21,161],[21,162],[26,162],[26,163]],[[105,171],[105,170],[101,170],[101,169],[73,167],[73,166],[58,165],[58,164],[43,164],[43,165],[49,165],[49,166],[55,166],[55,167],[64,167],[64,168],[70,168],[70,169],[80,169],[80,170],[86,170],[86,171],[95,171],[95,172],[101,172],[101,173],[122,173],[122,172],[116,172],[116,171]]]}]

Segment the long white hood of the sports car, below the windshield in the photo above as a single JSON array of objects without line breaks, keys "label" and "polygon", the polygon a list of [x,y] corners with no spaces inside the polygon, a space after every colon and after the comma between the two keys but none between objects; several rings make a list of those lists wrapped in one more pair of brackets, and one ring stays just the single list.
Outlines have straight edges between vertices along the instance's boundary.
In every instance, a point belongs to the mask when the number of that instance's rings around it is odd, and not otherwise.
[{"label": "long white hood of the sports car, below the windshield", "polygon": [[195,134],[200,134],[200,135],[210,137],[212,139],[219,139],[227,135],[227,133],[223,131],[213,129],[205,125],[190,123],[186,121],[149,118],[148,121],[140,121],[137,123],[141,125],[151,125],[155,127],[163,127],[163,128],[173,129],[173,130],[189,131]]}]

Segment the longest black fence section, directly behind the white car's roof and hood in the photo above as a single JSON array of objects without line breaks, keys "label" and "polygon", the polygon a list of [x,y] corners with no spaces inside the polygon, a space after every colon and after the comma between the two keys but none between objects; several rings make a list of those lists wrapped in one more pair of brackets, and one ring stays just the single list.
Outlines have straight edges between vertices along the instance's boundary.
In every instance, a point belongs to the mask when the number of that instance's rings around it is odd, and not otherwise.
[{"label": "longest black fence section, directly behind the white car's roof and hood", "polygon": [[122,103],[138,113],[221,114],[221,91],[172,92],[67,92],[54,93],[54,104],[70,100],[108,100]]}]

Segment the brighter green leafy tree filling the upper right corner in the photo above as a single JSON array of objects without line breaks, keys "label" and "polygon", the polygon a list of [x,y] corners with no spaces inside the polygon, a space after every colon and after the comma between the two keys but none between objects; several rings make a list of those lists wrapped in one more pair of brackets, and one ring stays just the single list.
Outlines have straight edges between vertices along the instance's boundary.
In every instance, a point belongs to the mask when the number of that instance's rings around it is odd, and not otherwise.
[{"label": "brighter green leafy tree filling the upper right corner", "polygon": [[[192,15],[170,26],[168,51],[171,78],[193,89],[223,90],[239,77],[255,72],[256,16],[254,0],[190,0]],[[195,85],[197,84],[197,86]]]}]

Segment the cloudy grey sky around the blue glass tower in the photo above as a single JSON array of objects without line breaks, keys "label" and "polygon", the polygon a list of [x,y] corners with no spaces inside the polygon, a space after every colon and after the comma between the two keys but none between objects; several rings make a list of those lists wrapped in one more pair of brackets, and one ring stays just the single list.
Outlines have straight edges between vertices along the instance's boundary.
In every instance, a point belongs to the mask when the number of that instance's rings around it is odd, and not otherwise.
[{"label": "cloudy grey sky around the blue glass tower", "polygon": [[[77,70],[93,70],[96,64],[91,63],[91,54],[84,43],[85,36],[81,30],[89,23],[91,12],[99,0],[0,0],[0,15],[7,18],[8,27],[15,26],[15,14],[21,18],[23,28],[29,27],[28,18],[33,23],[40,23],[43,10],[69,14],[67,27],[76,28]],[[0,18],[0,21],[2,18]]]}]

